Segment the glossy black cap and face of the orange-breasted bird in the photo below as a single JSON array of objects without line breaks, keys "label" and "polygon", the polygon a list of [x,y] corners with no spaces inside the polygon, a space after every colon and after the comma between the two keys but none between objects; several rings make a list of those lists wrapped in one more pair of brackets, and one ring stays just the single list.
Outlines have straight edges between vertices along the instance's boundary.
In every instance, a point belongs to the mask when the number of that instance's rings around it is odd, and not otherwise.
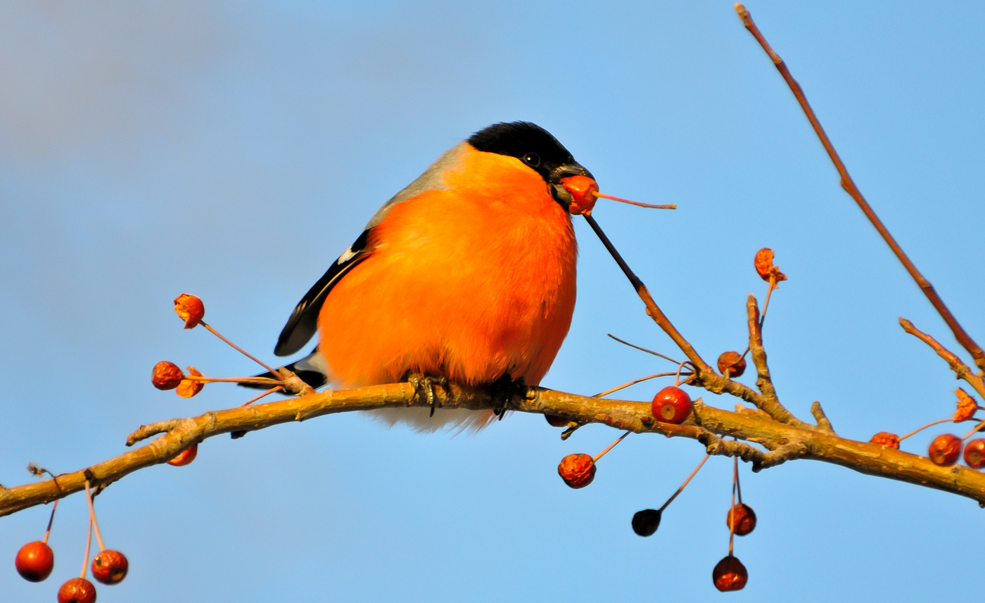
[{"label": "glossy black cap and face of the orange-breasted bird", "polygon": [[472,135],[469,144],[478,151],[515,157],[541,174],[548,184],[559,184],[570,175],[587,175],[558,139],[529,121],[496,123]]}]

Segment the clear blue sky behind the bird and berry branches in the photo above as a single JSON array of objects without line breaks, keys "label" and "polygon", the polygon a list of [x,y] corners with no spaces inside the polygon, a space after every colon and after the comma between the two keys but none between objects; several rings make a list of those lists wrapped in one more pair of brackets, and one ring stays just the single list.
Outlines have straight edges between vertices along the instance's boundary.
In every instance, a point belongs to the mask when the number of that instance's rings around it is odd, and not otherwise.
[{"label": "clear blue sky behind the bird and berry branches", "polygon": [[[985,5],[751,2],[857,183],[979,342],[985,340]],[[780,76],[731,2],[168,2],[0,5],[0,483],[35,461],[73,471],[126,450],[141,424],[227,408],[150,384],[160,360],[256,369],[211,324],[273,360],[284,321],[376,207],[442,151],[497,121],[534,121],[603,191],[595,216],[708,360],[745,346],[759,247],[790,280],[765,346],[781,399],[820,400],[841,436],[903,434],[953,411],[952,373],[904,334],[943,321],[838,186]],[[594,394],[671,356],[583,221],[578,305],[543,384]],[[956,345],[953,346],[956,350]],[[751,383],[749,375],[741,380]],[[624,397],[649,399],[668,383]],[[699,392],[690,390],[692,395]],[[705,396],[731,408],[733,399]],[[962,426],[959,434],[963,433]],[[904,442],[926,450],[944,429]],[[539,416],[478,436],[422,436],[361,414],[205,441],[198,459],[132,474],[99,497],[130,560],[113,601],[927,601],[980,590],[985,511],[966,499],[811,461],[752,474],[747,588],[721,595],[731,460],[687,439],[630,436],[569,490],[567,441]],[[0,519],[0,592],[51,601],[78,575],[85,499],[64,501],[52,576],[13,558],[48,507]]]}]

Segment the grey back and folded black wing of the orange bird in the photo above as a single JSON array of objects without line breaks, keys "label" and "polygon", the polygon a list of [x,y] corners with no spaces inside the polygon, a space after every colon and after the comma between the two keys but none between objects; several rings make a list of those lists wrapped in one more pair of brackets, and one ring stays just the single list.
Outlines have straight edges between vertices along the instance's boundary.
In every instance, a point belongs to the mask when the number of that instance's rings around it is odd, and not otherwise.
[{"label": "grey back and folded black wing of the orange bird", "polygon": [[295,310],[291,313],[288,323],[284,325],[281,336],[277,340],[277,346],[274,348],[275,355],[290,356],[304,347],[304,344],[318,330],[318,312],[321,311],[321,306],[329,292],[350,270],[369,257],[375,248],[368,245],[369,233],[373,227],[383,222],[394,205],[412,199],[428,190],[444,190],[446,188],[444,172],[459,165],[462,154],[467,150],[467,144],[458,144],[445,152],[436,162],[427,167],[423,174],[394,195],[373,214],[356,242],[349,245],[345,253],[332,263],[332,266],[301,298],[301,301],[297,302]]}]

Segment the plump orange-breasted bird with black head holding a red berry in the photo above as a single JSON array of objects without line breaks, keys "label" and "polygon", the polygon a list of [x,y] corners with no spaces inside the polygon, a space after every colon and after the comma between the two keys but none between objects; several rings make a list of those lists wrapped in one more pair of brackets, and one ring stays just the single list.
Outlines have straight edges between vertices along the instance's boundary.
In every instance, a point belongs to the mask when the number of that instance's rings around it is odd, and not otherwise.
[{"label": "plump orange-breasted bird with black head holding a red berry", "polygon": [[[297,303],[274,353],[318,387],[412,377],[538,385],[571,324],[571,176],[594,176],[544,128],[500,122],[455,145],[373,214]],[[420,432],[481,430],[492,411],[369,411]],[[501,418],[501,417],[500,417]]]}]

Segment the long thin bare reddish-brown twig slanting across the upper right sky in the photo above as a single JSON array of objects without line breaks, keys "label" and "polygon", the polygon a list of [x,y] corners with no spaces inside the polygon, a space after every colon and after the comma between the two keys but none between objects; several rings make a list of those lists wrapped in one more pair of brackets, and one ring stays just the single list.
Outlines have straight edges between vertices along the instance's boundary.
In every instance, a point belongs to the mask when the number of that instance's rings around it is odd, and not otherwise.
[{"label": "long thin bare reddish-brown twig slanting across the upper right sky", "polygon": [[899,243],[897,243],[896,239],[892,237],[892,234],[889,234],[889,231],[886,230],[886,226],[883,224],[883,221],[879,219],[879,216],[876,215],[876,212],[872,209],[872,206],[870,206],[869,202],[866,201],[864,196],[862,196],[862,191],[860,191],[858,186],[855,185],[855,181],[852,180],[852,176],[848,173],[848,168],[845,167],[845,164],[841,161],[841,158],[838,157],[838,152],[834,150],[834,145],[831,144],[831,140],[824,132],[824,128],[821,127],[821,121],[818,120],[818,116],[815,114],[814,109],[811,108],[811,104],[807,101],[807,97],[804,95],[804,91],[801,89],[800,84],[798,84],[797,81],[794,80],[793,76],[790,75],[790,70],[787,69],[786,63],[784,63],[783,59],[781,59],[780,56],[770,47],[769,42],[767,42],[766,38],[759,32],[759,28],[755,26],[753,16],[750,15],[749,10],[747,10],[742,3],[736,3],[736,12],[739,13],[739,18],[742,19],[743,25],[746,26],[749,33],[753,34],[755,40],[759,42],[762,49],[769,55],[770,60],[773,61],[773,66],[775,66],[776,70],[780,72],[781,76],[783,76],[783,79],[790,87],[790,91],[794,93],[794,97],[797,98],[797,102],[799,102],[801,108],[804,109],[804,114],[807,115],[808,120],[811,122],[811,126],[814,127],[815,133],[818,135],[818,138],[821,139],[821,145],[824,146],[824,151],[827,152],[827,156],[831,158],[831,163],[834,164],[835,169],[838,170],[838,174],[841,175],[841,187],[845,189],[845,192],[851,195],[852,199],[854,199],[859,208],[861,208],[862,213],[866,215],[869,222],[876,227],[879,234],[881,234],[883,239],[886,240],[886,244],[889,245],[889,248],[892,249],[892,252],[896,255],[896,258],[900,261],[900,263],[902,263],[903,267],[906,268],[906,271],[910,273],[910,276],[913,277],[913,280],[916,282],[917,286],[920,287],[920,291],[927,296],[927,299],[931,302],[934,308],[937,309],[938,313],[941,314],[944,321],[948,323],[949,327],[951,327],[954,338],[957,339],[958,343],[960,343],[961,346],[968,351],[968,354],[975,359],[975,364],[978,365],[978,368],[985,370],[985,352],[983,352],[981,347],[976,344],[966,332],[964,332],[964,328],[957,322],[957,319],[954,318],[951,310],[948,309],[947,305],[945,305],[944,300],[937,295],[937,291],[934,290],[934,286],[931,285],[930,281],[925,279],[922,274],[920,274],[920,271],[917,270],[917,267],[912,261],[910,261],[910,258],[907,257],[906,253],[903,251],[903,248],[899,246]]}]

